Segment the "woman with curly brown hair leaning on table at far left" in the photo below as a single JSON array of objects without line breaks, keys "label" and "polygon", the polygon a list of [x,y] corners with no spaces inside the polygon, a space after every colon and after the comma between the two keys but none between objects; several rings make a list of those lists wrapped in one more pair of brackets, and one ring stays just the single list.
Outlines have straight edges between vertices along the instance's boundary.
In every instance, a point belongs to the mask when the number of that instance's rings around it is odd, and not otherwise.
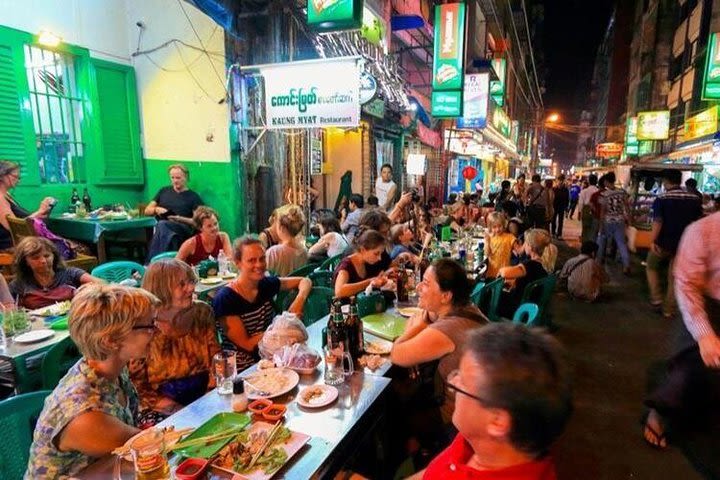
[{"label": "woman with curly brown hair leaning on table at far left", "polygon": [[104,283],[85,270],[66,267],[55,244],[43,237],[25,237],[15,247],[15,280],[10,293],[21,307],[36,309],[70,300],[80,285]]}]

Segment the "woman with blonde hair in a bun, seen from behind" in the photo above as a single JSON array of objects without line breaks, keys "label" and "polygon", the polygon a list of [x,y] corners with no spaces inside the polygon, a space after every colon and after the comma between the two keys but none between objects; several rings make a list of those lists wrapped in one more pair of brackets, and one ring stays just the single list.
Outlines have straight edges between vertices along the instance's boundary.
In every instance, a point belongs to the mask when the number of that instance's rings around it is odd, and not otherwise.
[{"label": "woman with blonde hair in a bun, seen from behind", "polygon": [[297,205],[284,205],[277,210],[275,231],[280,243],[265,252],[268,270],[284,277],[307,263],[307,250],[298,239],[305,226],[305,214]]}]

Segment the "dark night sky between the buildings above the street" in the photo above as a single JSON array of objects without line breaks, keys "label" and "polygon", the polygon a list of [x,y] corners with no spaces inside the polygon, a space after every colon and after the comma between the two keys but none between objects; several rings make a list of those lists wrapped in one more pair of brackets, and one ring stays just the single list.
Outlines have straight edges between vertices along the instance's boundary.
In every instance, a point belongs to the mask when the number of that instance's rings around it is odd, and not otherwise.
[{"label": "dark night sky between the buildings above the street", "polygon": [[[624,0],[620,0],[624,1]],[[545,0],[544,45],[546,112],[560,113],[561,123],[576,125],[587,106],[598,46],[612,14],[613,0]],[[575,137],[548,135],[555,158],[575,159]]]}]

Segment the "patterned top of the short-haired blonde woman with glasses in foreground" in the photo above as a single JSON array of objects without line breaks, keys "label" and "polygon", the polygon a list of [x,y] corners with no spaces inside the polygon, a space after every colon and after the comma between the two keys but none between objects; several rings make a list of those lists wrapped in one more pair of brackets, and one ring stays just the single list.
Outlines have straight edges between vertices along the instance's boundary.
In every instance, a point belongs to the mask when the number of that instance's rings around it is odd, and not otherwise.
[{"label": "patterned top of the short-haired blonde woman with glasses in foreground", "polygon": [[[126,405],[120,403],[121,393],[127,399]],[[70,368],[45,399],[30,447],[26,479],[67,478],[96,460],[80,452],[61,452],[55,445],[60,432],[88,412],[102,412],[135,425],[138,397],[126,368],[118,381],[97,375],[84,358]]]}]

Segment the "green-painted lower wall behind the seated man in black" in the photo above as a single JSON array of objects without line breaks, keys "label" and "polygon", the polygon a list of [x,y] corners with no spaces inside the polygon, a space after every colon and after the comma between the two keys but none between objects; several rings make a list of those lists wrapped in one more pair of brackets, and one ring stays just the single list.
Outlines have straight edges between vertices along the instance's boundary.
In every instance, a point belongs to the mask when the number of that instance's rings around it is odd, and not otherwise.
[{"label": "green-painted lower wall behind the seated man in black", "polygon": [[244,229],[244,218],[240,214],[240,190],[237,184],[238,173],[235,167],[237,159],[233,155],[231,162],[178,162],[175,160],[146,159],[145,191],[143,198],[149,202],[155,193],[170,185],[168,167],[182,163],[190,170],[188,186],[196,191],[205,203],[220,215],[220,228],[234,239]]}]

